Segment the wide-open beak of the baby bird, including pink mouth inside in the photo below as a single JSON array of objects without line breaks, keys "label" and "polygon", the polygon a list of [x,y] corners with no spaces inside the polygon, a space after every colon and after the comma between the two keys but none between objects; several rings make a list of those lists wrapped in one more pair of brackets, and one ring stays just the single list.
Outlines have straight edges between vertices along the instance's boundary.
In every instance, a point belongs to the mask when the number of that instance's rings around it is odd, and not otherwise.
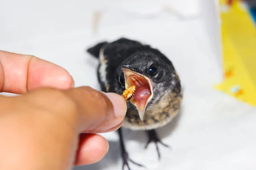
[{"label": "wide-open beak of the baby bird, including pink mouth inside", "polygon": [[130,102],[137,108],[140,119],[143,121],[148,102],[153,97],[153,88],[148,77],[136,73],[128,66],[123,65],[122,71],[125,77],[125,88],[136,85],[136,93]]}]

